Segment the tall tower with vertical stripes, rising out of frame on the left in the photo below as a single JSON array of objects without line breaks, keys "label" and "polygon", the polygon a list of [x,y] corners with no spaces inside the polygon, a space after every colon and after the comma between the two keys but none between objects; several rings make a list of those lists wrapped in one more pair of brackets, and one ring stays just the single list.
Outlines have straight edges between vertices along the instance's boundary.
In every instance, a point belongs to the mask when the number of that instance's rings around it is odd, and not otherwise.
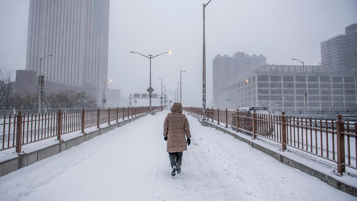
[{"label": "tall tower with vertical stripes, rising out of frame on the left", "polygon": [[101,105],[108,38],[109,0],[31,0],[26,70],[41,71],[46,81],[90,87]]}]

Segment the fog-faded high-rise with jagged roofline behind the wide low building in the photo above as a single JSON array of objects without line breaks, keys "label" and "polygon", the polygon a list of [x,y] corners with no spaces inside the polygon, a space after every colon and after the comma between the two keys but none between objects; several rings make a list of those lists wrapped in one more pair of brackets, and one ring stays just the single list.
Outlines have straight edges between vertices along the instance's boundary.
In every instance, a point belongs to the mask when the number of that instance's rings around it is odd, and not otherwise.
[{"label": "fog-faded high-rise with jagged roofline behind the wide low building", "polygon": [[228,85],[241,74],[250,72],[251,70],[266,64],[266,57],[263,55],[249,56],[244,52],[237,52],[233,57],[228,57],[226,54],[222,57],[217,55],[213,59],[213,105],[218,105],[218,94],[222,87]]}]

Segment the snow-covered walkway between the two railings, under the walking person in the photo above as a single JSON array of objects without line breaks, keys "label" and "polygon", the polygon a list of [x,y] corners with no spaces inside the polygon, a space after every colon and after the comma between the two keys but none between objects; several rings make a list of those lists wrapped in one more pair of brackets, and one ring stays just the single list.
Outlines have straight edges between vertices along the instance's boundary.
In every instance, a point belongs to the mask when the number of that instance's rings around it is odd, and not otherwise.
[{"label": "snow-covered walkway between the two railings, under the walking person", "polygon": [[166,112],[0,177],[0,200],[354,200],[187,115],[191,145],[172,177]]}]

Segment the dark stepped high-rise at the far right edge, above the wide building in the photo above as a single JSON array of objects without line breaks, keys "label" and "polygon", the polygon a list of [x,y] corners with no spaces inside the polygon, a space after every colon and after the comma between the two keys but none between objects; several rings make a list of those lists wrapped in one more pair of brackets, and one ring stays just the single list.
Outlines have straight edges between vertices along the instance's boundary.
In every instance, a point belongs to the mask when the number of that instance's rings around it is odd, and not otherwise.
[{"label": "dark stepped high-rise at the far right edge, above the wide building", "polygon": [[329,72],[357,73],[357,24],[321,41],[321,65]]}]

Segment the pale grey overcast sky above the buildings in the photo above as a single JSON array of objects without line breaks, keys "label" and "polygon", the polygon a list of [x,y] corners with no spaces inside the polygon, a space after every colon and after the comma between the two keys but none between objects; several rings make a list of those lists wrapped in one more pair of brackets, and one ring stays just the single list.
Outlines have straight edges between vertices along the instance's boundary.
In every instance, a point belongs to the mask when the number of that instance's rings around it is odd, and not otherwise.
[{"label": "pale grey overcast sky above the buildings", "polygon": [[[208,0],[110,1],[108,79],[121,94],[147,93],[149,59],[153,93],[161,79],[174,100],[182,73],[182,104],[202,107],[202,4]],[[0,0],[0,64],[25,69],[28,0]],[[212,0],[206,15],[206,82],[212,92],[212,60],[236,52],[264,55],[267,63],[321,62],[320,42],[357,22],[357,0]],[[239,72],[238,72],[239,73]],[[207,93],[210,107],[211,94]]]}]

